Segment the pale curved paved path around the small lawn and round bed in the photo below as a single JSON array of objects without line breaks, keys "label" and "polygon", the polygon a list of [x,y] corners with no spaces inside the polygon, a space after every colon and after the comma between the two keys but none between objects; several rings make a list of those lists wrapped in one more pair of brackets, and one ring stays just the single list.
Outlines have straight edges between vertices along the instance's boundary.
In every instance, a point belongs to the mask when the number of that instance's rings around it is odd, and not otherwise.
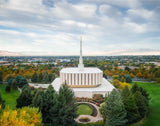
[{"label": "pale curved paved path around the small lawn and round bed", "polygon": [[82,118],[82,117],[87,117],[87,118],[90,119],[89,122],[83,122],[84,124],[85,124],[85,123],[90,123],[90,122],[98,122],[98,121],[100,121],[100,120],[103,120],[103,118],[102,118],[102,116],[101,116],[101,114],[100,114],[100,112],[99,112],[99,107],[98,107],[97,105],[95,105],[95,104],[93,104],[93,103],[90,103],[90,102],[78,102],[78,103],[91,104],[91,105],[93,105],[93,106],[97,109],[97,116],[96,116],[96,117],[91,116],[91,115],[79,115],[79,116],[75,119],[78,123],[82,123],[82,122],[79,121],[79,119]]}]

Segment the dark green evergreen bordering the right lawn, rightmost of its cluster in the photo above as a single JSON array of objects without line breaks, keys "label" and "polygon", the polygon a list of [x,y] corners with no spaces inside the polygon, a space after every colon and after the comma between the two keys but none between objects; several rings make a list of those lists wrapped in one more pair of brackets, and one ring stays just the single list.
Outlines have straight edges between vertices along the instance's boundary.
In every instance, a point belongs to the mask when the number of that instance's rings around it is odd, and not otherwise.
[{"label": "dark green evergreen bordering the right lawn, rightmost of its cluster", "polygon": [[140,114],[141,118],[143,118],[148,112],[148,107],[147,107],[146,101],[145,101],[146,99],[141,94],[140,91],[135,92],[134,98],[135,98],[136,105],[138,107],[139,114]]}]

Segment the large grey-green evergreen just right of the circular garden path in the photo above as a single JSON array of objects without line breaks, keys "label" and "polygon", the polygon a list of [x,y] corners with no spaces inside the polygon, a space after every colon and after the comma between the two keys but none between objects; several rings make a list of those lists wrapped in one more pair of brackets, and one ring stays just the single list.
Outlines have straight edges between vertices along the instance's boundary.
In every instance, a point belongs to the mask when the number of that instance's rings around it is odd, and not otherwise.
[{"label": "large grey-green evergreen just right of the circular garden path", "polygon": [[110,93],[106,100],[107,106],[107,126],[123,126],[126,124],[126,110],[121,95],[115,89]]}]

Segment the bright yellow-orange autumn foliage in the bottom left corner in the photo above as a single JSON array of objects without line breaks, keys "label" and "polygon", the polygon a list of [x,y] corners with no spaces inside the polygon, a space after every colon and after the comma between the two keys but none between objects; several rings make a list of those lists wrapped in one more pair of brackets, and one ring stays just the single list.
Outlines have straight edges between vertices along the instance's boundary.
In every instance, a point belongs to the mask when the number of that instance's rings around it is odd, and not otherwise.
[{"label": "bright yellow-orange autumn foliage in the bottom left corner", "polygon": [[5,109],[0,117],[1,126],[41,126],[41,112],[38,108]]}]

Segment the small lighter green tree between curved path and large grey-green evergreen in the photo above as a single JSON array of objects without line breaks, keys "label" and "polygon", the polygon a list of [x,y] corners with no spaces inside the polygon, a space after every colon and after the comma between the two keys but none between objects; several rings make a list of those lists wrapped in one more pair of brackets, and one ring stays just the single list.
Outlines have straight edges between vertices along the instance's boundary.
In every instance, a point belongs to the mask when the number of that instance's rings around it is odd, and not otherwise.
[{"label": "small lighter green tree between curved path and large grey-green evergreen", "polygon": [[106,125],[106,121],[107,121],[107,106],[106,106],[106,103],[104,103],[100,109],[99,109],[102,117],[103,117],[103,123],[104,125]]}]

